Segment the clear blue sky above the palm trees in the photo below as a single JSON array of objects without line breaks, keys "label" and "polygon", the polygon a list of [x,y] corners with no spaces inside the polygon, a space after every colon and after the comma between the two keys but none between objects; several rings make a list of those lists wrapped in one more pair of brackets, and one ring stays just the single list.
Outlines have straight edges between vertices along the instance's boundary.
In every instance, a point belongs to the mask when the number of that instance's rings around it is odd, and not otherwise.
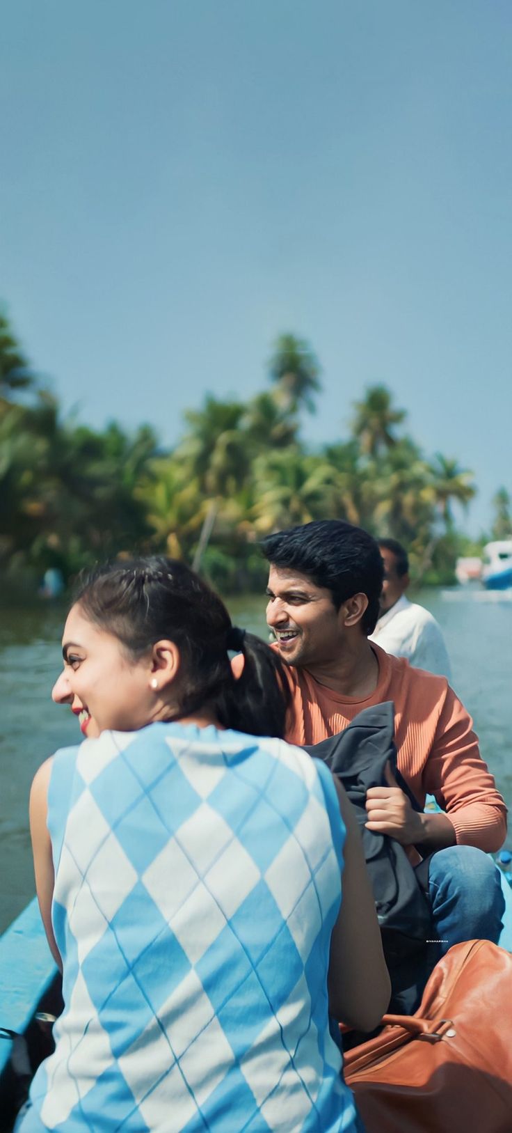
[{"label": "clear blue sky above the palm trees", "polygon": [[510,0],[3,0],[0,298],[65,407],[163,442],[281,331],[312,442],[385,382],[512,491]]}]

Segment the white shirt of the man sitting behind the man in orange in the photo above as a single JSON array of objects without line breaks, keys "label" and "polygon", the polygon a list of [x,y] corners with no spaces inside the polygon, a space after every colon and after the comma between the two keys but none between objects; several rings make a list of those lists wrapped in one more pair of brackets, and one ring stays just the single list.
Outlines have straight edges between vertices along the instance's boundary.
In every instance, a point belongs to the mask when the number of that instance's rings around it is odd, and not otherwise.
[{"label": "white shirt of the man sitting behind the man in orange", "polygon": [[416,668],[450,680],[450,658],[440,625],[428,610],[409,602],[404,594],[378,619],[369,640],[395,657],[407,657]]}]

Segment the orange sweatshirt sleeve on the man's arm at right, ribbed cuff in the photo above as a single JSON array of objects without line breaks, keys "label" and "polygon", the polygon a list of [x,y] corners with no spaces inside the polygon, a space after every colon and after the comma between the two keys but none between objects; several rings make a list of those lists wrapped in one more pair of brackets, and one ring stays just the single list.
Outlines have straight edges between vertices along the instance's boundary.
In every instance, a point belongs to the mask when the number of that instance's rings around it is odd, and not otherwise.
[{"label": "orange sweatshirt sleeve on the man's arm at right, ribbed cuff", "polygon": [[506,807],[480,756],[472,719],[450,685],[424,785],[446,811],[458,843],[487,853],[500,850],[506,835]]}]

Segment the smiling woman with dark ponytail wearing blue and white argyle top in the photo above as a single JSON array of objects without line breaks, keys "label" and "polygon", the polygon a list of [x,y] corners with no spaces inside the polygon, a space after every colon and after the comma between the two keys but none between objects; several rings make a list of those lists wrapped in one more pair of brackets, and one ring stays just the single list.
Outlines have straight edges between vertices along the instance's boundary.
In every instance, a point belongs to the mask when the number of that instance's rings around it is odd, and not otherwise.
[{"label": "smiling woman with dark ponytail wearing blue and white argyle top", "polygon": [[279,658],[170,559],[84,580],[62,654],[86,739],[37,772],[31,830],[65,1010],[17,1128],[353,1133],[330,1015],[368,1030],[389,983],[345,799],[281,739]]}]

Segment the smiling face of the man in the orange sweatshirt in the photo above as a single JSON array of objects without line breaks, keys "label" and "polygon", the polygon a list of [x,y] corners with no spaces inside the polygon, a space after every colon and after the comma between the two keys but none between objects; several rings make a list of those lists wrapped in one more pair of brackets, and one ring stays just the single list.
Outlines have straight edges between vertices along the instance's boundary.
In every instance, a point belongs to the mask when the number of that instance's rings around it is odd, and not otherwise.
[{"label": "smiling face of the man in the orange sweatshirt", "polygon": [[339,657],[343,621],[331,590],[307,574],[271,565],[266,593],[266,621],[287,665],[322,665]]}]

